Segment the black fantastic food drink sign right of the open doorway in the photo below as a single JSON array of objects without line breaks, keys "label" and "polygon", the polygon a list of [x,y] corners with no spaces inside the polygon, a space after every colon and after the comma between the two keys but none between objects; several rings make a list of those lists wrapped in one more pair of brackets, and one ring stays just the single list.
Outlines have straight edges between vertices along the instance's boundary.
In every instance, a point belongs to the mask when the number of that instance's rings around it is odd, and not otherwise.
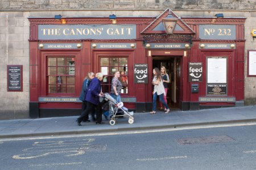
[{"label": "black fantastic food drink sign right of the open doorway", "polygon": [[188,63],[188,81],[189,82],[203,81],[203,63],[201,62]]}]

